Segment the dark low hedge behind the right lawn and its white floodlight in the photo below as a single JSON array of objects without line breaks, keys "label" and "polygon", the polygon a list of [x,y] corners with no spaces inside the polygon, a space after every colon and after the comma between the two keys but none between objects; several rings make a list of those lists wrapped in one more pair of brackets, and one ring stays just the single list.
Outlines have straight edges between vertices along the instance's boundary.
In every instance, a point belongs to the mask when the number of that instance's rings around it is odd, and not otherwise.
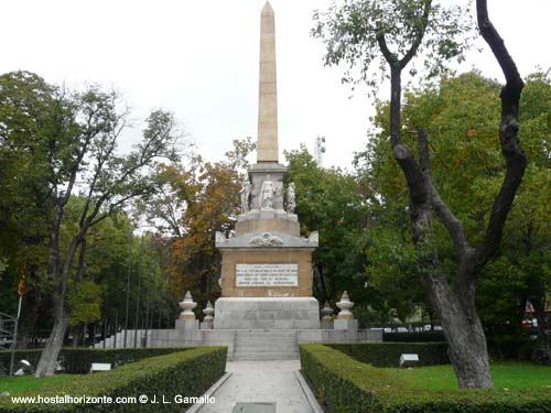
[{"label": "dark low hedge behind the right lawn and its white floodlight", "polygon": [[327,346],[375,367],[399,367],[402,354],[419,355],[420,366],[450,363],[445,343],[354,343]]}]

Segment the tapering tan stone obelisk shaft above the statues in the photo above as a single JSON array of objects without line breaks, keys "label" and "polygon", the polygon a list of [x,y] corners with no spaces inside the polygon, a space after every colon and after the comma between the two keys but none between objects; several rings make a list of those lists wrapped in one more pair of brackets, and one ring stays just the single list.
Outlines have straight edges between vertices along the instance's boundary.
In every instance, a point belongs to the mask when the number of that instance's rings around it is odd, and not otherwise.
[{"label": "tapering tan stone obelisk shaft above the statues", "polygon": [[257,162],[278,163],[278,84],[276,17],[267,1],[260,20],[260,76]]}]

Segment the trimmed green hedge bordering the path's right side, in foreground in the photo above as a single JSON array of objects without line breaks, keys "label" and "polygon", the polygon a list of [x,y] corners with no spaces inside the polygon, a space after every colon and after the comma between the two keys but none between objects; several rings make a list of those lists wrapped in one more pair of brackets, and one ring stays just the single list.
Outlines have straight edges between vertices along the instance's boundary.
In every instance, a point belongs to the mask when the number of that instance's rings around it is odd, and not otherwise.
[{"label": "trimmed green hedge bordering the path's right side, in foreground", "polygon": [[547,390],[413,388],[386,369],[323,345],[301,345],[302,373],[329,413],[549,413]]}]

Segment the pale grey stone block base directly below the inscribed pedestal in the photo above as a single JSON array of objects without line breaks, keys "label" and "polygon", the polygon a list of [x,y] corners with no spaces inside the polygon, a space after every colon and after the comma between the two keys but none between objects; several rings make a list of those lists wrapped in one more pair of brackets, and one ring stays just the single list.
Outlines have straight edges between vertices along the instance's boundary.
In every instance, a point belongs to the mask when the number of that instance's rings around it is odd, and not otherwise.
[{"label": "pale grey stone block base directly below the inscribed pedestal", "polygon": [[314,297],[223,297],[216,301],[214,329],[318,329]]}]

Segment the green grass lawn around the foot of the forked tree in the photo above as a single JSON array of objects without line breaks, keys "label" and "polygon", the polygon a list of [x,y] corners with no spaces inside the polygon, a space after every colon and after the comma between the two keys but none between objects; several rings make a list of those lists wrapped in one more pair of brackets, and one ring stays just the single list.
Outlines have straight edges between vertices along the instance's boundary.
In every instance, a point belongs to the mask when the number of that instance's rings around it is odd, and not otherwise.
[{"label": "green grass lawn around the foot of the forked tree", "polygon": [[[431,366],[415,369],[385,369],[410,385],[425,390],[457,389],[452,366]],[[490,366],[495,389],[549,389],[551,367],[527,362],[495,362]]]}]

